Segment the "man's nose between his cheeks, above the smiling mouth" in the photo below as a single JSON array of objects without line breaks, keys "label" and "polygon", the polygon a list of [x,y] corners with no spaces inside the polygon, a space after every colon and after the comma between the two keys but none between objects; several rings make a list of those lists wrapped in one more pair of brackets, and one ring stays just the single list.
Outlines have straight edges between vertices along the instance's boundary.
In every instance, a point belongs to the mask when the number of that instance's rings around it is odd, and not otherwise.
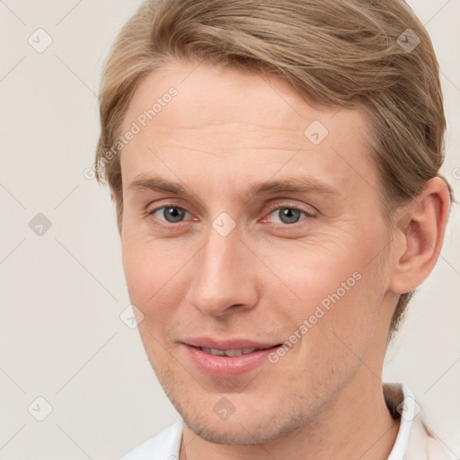
[{"label": "man's nose between his cheeks, above the smiling mouth", "polygon": [[223,316],[257,304],[256,258],[246,244],[236,229],[223,236],[210,228],[208,243],[194,258],[187,296],[202,314]]}]

